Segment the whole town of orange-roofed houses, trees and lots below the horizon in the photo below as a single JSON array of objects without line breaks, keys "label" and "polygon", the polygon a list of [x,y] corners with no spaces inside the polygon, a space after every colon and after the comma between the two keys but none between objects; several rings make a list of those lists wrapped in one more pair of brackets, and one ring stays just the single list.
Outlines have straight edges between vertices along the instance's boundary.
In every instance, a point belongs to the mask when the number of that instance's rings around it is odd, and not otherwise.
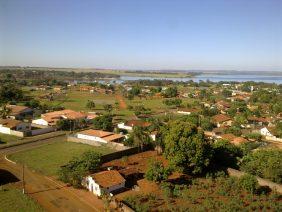
[{"label": "whole town of orange-roofed houses, trees and lots below the horizon", "polygon": [[281,211],[282,84],[122,73],[1,67],[4,211]]}]

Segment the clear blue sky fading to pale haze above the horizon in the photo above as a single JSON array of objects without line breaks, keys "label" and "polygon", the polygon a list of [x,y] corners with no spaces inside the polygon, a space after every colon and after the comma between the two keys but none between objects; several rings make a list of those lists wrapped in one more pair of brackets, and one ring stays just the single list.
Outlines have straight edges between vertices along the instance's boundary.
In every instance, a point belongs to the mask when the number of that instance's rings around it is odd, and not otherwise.
[{"label": "clear blue sky fading to pale haze above the horizon", "polygon": [[0,0],[0,65],[282,71],[282,0]]}]

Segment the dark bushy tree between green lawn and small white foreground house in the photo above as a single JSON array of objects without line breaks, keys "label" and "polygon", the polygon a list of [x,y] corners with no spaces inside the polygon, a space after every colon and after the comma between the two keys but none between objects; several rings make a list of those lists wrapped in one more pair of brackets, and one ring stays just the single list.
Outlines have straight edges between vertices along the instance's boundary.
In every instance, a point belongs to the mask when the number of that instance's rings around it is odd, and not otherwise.
[{"label": "dark bushy tree between green lawn and small white foreground house", "polygon": [[81,187],[83,177],[96,171],[101,164],[101,154],[87,151],[80,157],[74,157],[68,164],[62,166],[59,171],[59,179],[70,183],[74,187]]}]

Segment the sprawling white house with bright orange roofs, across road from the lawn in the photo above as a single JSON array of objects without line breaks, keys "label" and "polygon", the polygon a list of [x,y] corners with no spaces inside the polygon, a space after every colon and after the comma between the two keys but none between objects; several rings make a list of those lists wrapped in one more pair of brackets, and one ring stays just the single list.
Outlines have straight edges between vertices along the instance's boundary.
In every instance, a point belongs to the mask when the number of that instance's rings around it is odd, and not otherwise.
[{"label": "sprawling white house with bright orange roofs, across road from the lawn", "polygon": [[40,119],[33,120],[32,123],[44,126],[55,126],[57,121],[61,119],[68,119],[79,122],[86,119],[87,115],[73,110],[60,110],[50,113],[41,114]]}]

